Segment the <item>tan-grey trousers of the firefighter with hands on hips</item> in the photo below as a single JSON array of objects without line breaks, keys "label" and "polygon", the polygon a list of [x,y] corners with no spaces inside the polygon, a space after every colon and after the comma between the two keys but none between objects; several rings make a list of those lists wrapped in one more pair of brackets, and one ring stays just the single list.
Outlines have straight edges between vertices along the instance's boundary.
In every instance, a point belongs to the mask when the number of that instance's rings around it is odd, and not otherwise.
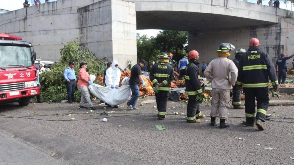
[{"label": "tan-grey trousers of the firefighter with hands on hips", "polygon": [[220,119],[228,118],[228,108],[230,103],[230,89],[212,89],[211,112],[212,117],[219,117]]}]

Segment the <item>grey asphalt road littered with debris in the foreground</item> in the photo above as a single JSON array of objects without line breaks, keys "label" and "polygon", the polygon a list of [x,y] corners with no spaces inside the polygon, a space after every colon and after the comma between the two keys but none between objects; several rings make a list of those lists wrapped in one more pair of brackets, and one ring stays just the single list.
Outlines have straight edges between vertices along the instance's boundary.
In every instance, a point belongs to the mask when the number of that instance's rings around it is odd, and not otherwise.
[{"label": "grey asphalt road littered with debris in the foreground", "polygon": [[[294,158],[294,135],[291,135],[294,134],[294,119],[283,119],[294,118],[294,106],[271,106],[268,113],[280,116],[270,117],[270,120],[292,123],[266,121],[265,130],[259,131],[257,127],[241,125],[244,118],[228,118],[230,127],[225,129],[209,126],[209,117],[201,119],[201,123],[187,123],[184,101],[168,101],[167,113],[178,112],[179,115],[167,115],[165,120],[158,120],[153,114],[157,113],[153,108],[156,103],[140,106],[146,99],[155,98],[140,99],[138,110],[128,110],[126,105],[117,109],[96,105],[93,113],[78,110],[78,103],[2,105],[0,115],[44,120],[0,116],[0,132],[5,134],[6,140],[11,138],[10,142],[24,143],[44,153],[44,157],[55,152],[54,159],[64,164],[294,164],[290,158]],[[201,105],[205,115],[209,115],[211,107],[207,104]],[[109,113],[108,116],[100,115],[103,111]],[[58,115],[63,113],[83,114]],[[127,116],[115,117],[119,115]],[[245,112],[229,109],[229,116],[244,117]],[[73,117],[76,120],[45,121]],[[102,122],[103,117],[108,121]],[[166,129],[157,130],[155,125],[164,125]],[[6,150],[9,148],[0,148],[1,152]],[[0,159],[3,157],[0,154]]]}]

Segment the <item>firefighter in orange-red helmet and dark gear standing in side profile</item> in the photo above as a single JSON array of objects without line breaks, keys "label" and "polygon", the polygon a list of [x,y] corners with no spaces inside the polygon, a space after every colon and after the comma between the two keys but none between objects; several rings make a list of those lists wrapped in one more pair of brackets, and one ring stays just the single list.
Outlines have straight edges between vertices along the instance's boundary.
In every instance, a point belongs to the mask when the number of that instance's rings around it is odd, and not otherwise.
[{"label": "firefighter in orange-red helmet and dark gear standing in side profile", "polygon": [[200,123],[199,118],[205,118],[206,116],[199,110],[199,101],[203,99],[203,92],[199,83],[199,53],[196,50],[192,50],[188,54],[189,64],[185,69],[185,81],[186,81],[186,93],[189,95],[189,101],[187,105],[187,122],[188,123]]}]

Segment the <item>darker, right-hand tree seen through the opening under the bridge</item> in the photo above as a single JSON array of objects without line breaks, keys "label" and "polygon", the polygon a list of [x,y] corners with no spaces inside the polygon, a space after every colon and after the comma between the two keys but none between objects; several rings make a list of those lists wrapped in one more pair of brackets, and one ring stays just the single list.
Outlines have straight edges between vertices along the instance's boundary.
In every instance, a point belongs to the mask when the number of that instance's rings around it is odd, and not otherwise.
[{"label": "darker, right-hand tree seen through the opening under the bridge", "polygon": [[[156,48],[160,52],[173,53],[173,58],[178,61],[183,54],[188,43],[187,31],[162,30],[156,35]],[[186,47],[187,50],[187,47]]]}]

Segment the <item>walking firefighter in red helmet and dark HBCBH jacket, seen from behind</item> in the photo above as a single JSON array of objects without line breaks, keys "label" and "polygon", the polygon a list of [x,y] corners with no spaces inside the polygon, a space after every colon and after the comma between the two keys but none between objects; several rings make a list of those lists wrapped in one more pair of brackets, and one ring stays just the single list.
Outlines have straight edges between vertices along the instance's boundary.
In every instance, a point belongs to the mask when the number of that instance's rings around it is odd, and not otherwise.
[{"label": "walking firefighter in red helmet and dark HBCBH jacket, seen from behind", "polygon": [[[259,40],[252,38],[249,41],[249,49],[239,61],[238,89],[245,93],[244,125],[255,126],[264,130],[266,112],[269,105],[268,79],[271,80],[274,90],[278,90],[278,81],[275,74],[275,66],[269,55],[259,47]],[[255,110],[255,98],[257,100],[257,113]]]}]

